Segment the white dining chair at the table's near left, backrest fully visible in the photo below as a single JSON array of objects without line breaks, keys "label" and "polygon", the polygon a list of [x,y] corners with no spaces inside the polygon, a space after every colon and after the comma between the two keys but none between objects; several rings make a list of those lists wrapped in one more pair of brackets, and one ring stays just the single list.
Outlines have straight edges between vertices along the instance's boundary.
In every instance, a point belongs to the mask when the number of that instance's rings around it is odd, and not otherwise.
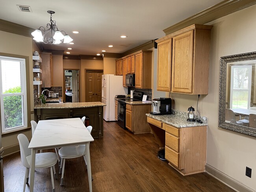
[{"label": "white dining chair at the table's near left, backrest fully visible", "polygon": [[[18,135],[19,145],[20,145],[20,157],[21,162],[24,167],[26,167],[25,177],[24,177],[24,184],[23,184],[23,192],[25,192],[26,184],[28,184],[28,175],[30,170],[30,162],[31,162],[31,149],[28,148],[29,142],[28,138],[23,135]],[[47,153],[37,153],[35,154],[35,168],[48,168],[50,167],[51,178],[52,178],[52,191],[55,191],[54,188],[54,179],[57,179],[57,175],[55,172],[54,165],[57,162],[57,155],[56,153],[47,152]]]}]

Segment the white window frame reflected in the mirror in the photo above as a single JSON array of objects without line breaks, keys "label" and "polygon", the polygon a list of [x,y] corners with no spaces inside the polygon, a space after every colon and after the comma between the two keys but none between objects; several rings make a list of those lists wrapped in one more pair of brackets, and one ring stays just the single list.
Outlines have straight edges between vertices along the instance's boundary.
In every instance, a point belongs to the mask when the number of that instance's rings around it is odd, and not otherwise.
[{"label": "white window frame reflected in the mirror", "polygon": [[251,92],[252,92],[252,65],[232,65],[231,66],[231,82],[230,82],[230,107],[233,106],[233,90],[236,90],[236,89],[233,89],[234,87],[234,68],[237,68],[237,67],[244,67],[244,68],[249,68],[249,76],[248,76],[248,89],[239,89],[239,90],[247,90],[248,91],[248,103],[247,103],[247,109],[250,108],[250,95],[251,95]]}]

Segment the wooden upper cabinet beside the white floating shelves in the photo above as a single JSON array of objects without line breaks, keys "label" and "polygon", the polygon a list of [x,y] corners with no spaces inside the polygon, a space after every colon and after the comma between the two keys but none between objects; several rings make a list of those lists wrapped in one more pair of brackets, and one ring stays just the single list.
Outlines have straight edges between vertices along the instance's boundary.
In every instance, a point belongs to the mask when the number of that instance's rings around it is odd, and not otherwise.
[{"label": "wooden upper cabinet beside the white floating shelves", "polygon": [[41,62],[41,81],[44,87],[52,87],[53,75],[52,75],[52,54],[51,53],[40,53],[42,58]]}]

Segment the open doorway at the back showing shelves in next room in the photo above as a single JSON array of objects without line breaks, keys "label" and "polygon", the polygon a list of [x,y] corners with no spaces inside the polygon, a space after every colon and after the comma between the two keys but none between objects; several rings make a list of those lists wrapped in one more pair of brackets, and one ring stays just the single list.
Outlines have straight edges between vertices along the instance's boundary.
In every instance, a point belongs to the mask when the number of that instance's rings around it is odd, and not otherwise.
[{"label": "open doorway at the back showing shelves in next room", "polygon": [[63,101],[77,103],[79,99],[79,70],[64,69]]}]

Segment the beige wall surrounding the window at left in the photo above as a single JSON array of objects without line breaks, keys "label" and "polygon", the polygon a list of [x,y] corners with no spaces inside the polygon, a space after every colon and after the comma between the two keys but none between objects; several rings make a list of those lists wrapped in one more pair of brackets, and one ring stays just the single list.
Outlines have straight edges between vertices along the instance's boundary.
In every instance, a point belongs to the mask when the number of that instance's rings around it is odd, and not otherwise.
[{"label": "beige wall surrounding the window at left", "polygon": [[[24,55],[29,56],[29,66],[30,66],[30,110],[32,112],[31,119],[33,119],[33,111],[34,111],[34,104],[33,104],[33,61],[32,61],[32,38],[24,37],[21,35],[16,35],[13,33],[7,33],[5,31],[0,31],[0,52],[7,53],[7,54],[15,54],[15,55]],[[30,126],[30,122],[28,122],[28,126]],[[1,129],[2,130],[2,129]],[[24,133],[28,139],[31,139],[31,129],[25,129],[24,131],[19,131],[18,133],[8,133],[2,135],[2,146],[5,150],[8,150],[10,147],[18,145],[17,135],[19,133]],[[7,155],[4,153],[4,155]]]}]

